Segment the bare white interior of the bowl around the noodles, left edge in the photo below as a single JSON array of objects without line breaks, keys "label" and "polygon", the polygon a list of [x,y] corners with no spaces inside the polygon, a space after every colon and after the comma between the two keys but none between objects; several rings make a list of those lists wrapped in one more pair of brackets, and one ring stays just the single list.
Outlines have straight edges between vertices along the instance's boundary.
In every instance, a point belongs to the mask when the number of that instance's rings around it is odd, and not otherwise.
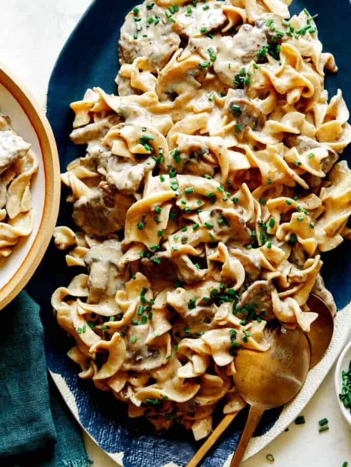
[{"label": "bare white interior of the bowl around the noodles, left edge", "polygon": [[32,234],[29,237],[23,237],[14,246],[12,253],[7,258],[0,260],[0,289],[2,289],[14,276],[26,259],[31,246],[38,234],[44,211],[45,199],[45,174],[43,165],[43,156],[37,134],[17,100],[13,95],[0,84],[0,113],[8,115],[11,118],[14,130],[27,142],[32,144],[32,150],[38,160],[38,173],[32,179],[32,207],[35,210],[35,222]]}]

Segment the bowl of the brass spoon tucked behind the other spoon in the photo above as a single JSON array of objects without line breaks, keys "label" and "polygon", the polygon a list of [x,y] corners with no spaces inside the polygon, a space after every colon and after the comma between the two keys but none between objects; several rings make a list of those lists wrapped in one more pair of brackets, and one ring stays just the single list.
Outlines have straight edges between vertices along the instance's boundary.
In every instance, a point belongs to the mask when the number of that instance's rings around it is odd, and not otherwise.
[{"label": "bowl of the brass spoon tucked behind the other spoon", "polygon": [[310,368],[313,368],[330,346],[334,332],[334,318],[329,307],[316,295],[311,294],[307,303],[311,312],[318,313],[318,318],[311,324],[311,330],[306,334],[311,347]]}]

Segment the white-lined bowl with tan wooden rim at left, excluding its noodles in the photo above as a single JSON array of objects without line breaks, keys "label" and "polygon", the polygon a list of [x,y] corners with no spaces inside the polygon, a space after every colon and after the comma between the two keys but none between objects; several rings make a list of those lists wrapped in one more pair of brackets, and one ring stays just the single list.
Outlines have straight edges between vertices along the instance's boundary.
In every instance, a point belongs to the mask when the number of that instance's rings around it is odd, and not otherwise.
[{"label": "white-lined bowl with tan wooden rim at left, excluding its noodles", "polygon": [[31,186],[36,212],[32,234],[21,238],[10,256],[0,260],[2,309],[26,286],[51,240],[60,204],[60,164],[54,134],[43,110],[2,64],[0,111],[9,115],[15,131],[32,144],[39,165]]}]

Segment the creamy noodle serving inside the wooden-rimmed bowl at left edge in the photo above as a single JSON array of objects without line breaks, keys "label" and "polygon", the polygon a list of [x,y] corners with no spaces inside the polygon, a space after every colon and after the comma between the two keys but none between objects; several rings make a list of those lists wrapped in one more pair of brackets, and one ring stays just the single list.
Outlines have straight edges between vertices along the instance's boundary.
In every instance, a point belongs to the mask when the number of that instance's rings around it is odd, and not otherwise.
[{"label": "creamy noodle serving inside the wooden-rimmed bowl at left edge", "polygon": [[0,114],[0,258],[33,230],[30,190],[38,163],[30,147],[14,132],[10,118]]}]

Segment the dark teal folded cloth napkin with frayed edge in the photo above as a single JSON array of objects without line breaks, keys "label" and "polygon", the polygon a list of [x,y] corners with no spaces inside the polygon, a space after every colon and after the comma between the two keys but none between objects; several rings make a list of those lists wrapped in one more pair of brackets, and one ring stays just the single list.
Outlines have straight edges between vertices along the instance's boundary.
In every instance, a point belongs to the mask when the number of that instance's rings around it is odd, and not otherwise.
[{"label": "dark teal folded cloth napkin with frayed edge", "polygon": [[23,291],[1,314],[0,465],[90,465],[81,429],[47,375],[39,306]]}]

